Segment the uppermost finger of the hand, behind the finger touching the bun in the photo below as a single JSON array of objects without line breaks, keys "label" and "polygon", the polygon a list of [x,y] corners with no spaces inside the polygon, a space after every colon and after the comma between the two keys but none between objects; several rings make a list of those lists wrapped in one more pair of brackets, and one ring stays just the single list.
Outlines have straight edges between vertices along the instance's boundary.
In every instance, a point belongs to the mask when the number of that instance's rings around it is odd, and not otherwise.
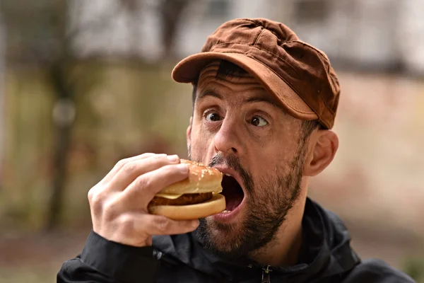
[{"label": "uppermost finger of the hand, behind the finger touching the bun", "polygon": [[139,176],[172,163],[179,163],[179,157],[167,156],[166,154],[153,154],[144,158],[134,158],[134,160],[124,163],[119,171],[115,173],[107,185],[107,190],[125,190]]}]

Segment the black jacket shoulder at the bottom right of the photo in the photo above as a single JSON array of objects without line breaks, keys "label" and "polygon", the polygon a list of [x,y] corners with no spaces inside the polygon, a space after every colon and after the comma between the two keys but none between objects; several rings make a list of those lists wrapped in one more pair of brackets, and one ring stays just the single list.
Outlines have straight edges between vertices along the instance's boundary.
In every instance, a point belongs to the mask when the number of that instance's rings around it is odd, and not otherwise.
[{"label": "black jacket shoulder at the bottom right of the photo", "polygon": [[404,272],[396,270],[386,262],[372,259],[363,260],[356,265],[343,282],[413,283],[415,281]]}]

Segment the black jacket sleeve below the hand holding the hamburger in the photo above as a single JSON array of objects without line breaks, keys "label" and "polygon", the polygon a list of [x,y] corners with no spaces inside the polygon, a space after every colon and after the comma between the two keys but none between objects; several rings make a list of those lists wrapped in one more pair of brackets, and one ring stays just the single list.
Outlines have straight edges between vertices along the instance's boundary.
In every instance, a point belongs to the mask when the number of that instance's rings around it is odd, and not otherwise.
[{"label": "black jacket sleeve below the hand holding the hamburger", "polygon": [[155,282],[159,261],[153,247],[136,248],[107,241],[91,232],[78,257],[64,262],[58,283]]}]

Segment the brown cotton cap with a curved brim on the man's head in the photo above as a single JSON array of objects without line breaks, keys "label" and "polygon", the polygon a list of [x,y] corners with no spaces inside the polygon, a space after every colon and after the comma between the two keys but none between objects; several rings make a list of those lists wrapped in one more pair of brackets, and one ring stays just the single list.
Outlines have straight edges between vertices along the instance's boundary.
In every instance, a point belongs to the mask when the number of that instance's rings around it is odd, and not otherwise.
[{"label": "brown cotton cap with a curved brim on the man's head", "polygon": [[324,52],[299,40],[282,23],[264,18],[228,21],[208,37],[201,53],[172,71],[179,83],[192,83],[216,59],[237,64],[273,93],[290,115],[334,125],[340,86]]}]

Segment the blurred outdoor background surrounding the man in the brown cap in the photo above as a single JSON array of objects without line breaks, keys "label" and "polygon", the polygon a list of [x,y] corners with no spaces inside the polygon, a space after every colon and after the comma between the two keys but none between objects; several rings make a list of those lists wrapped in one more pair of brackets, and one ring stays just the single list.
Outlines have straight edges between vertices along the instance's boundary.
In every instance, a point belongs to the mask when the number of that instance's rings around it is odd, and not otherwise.
[{"label": "blurred outdoor background surrounding the man in the brown cap", "polygon": [[281,21],[329,55],[340,149],[310,196],[363,258],[424,282],[423,0],[0,0],[0,282],[56,282],[119,159],[187,156],[170,71],[224,21]]}]

